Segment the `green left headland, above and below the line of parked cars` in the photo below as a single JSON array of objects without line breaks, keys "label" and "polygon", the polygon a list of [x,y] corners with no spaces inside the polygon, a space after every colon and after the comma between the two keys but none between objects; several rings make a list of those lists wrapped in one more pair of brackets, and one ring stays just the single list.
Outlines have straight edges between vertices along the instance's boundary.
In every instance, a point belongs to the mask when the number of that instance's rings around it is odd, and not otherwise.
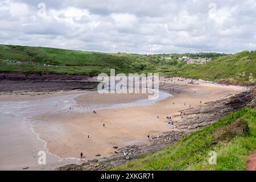
[{"label": "green left headland, above and below the line of parked cars", "polygon": [[89,75],[88,72],[92,70],[108,72],[109,68],[115,68],[118,72],[126,73],[129,72],[127,65],[130,64],[127,57],[114,56],[108,53],[5,45],[0,45],[0,59],[65,65],[65,67],[56,68],[0,61],[0,71],[26,73],[46,72]]}]

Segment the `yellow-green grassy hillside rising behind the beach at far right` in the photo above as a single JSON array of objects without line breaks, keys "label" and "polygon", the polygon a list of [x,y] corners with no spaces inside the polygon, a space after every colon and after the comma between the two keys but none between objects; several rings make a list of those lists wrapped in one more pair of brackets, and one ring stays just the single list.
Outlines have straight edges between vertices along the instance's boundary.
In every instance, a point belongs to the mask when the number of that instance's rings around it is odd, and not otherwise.
[{"label": "yellow-green grassy hillside rising behind the beach at far right", "polygon": [[[238,74],[241,75],[238,75]],[[242,73],[245,75],[242,76]],[[188,64],[179,72],[172,73],[177,76],[203,78],[205,80],[243,81],[249,82],[250,73],[256,78],[256,51],[243,51],[235,55],[220,57],[203,65]]]}]

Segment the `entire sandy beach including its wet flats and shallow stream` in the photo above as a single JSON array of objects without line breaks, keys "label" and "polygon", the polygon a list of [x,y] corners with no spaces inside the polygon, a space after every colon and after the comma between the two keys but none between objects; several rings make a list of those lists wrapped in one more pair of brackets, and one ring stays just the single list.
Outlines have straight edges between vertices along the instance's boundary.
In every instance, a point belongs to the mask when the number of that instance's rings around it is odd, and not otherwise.
[{"label": "entire sandy beach including its wet flats and shallow stream", "polygon": [[[180,117],[172,118],[174,125],[168,126],[166,116],[180,114],[180,110],[220,100],[246,89],[201,80],[192,85],[188,84],[189,81],[191,79],[161,78],[161,97],[154,102],[148,102],[147,94],[98,94],[81,90],[35,96],[31,96],[34,93],[2,94],[0,114],[5,117],[0,120],[1,125],[5,125],[2,130],[9,132],[2,135],[13,138],[12,145],[18,142],[20,147],[11,148],[11,144],[5,143],[7,138],[1,138],[1,151],[4,152],[0,155],[0,168],[54,169],[63,162],[81,163],[80,152],[84,154],[84,160],[97,159],[112,154],[114,146],[148,144],[148,134],[156,136],[177,130],[175,123],[180,121]],[[93,110],[97,113],[94,114]],[[28,130],[28,136],[20,138],[11,134],[13,127],[9,122],[13,121],[12,117],[18,121],[26,118],[27,122],[23,122],[23,125],[26,126],[25,131]],[[18,121],[15,123],[19,125]],[[17,132],[21,131],[24,130]],[[7,160],[15,155],[10,151],[26,148],[26,138],[35,143],[30,142],[31,148],[20,151],[19,155],[30,156],[33,165],[19,160],[19,164],[13,164],[16,160]],[[36,165],[36,152],[39,150],[46,150],[47,155],[51,156],[47,167]]]}]

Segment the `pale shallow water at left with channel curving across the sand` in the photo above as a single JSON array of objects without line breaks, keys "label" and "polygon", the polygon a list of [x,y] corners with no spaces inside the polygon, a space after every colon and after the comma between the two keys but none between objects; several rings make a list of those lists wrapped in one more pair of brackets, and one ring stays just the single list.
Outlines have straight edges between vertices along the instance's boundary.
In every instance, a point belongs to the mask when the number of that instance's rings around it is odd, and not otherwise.
[{"label": "pale shallow water at left with channel curving across the sand", "polygon": [[[69,94],[30,101],[0,101],[0,169],[9,170],[29,167],[28,169],[54,169],[68,163],[78,163],[75,159],[60,159],[46,148],[46,142],[33,128],[32,117],[39,114],[113,109],[118,107],[145,106],[164,100],[172,95],[159,91],[157,100],[138,100],[113,105],[78,105],[74,98],[87,94]],[[134,141],[131,141],[134,142]],[[38,164],[38,151],[47,152],[47,165]]]}]

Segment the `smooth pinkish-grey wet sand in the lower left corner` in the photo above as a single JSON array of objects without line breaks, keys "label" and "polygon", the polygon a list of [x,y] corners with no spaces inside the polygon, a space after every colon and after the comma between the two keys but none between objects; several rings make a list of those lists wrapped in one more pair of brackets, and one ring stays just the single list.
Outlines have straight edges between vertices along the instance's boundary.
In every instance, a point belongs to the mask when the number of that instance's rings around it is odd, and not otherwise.
[{"label": "smooth pinkish-grey wet sand in the lower left corner", "polygon": [[[22,117],[1,115],[0,119],[0,170],[53,170],[70,163],[46,150],[45,142],[32,133],[30,123]],[[38,164],[38,152],[46,152],[47,165]]]}]

